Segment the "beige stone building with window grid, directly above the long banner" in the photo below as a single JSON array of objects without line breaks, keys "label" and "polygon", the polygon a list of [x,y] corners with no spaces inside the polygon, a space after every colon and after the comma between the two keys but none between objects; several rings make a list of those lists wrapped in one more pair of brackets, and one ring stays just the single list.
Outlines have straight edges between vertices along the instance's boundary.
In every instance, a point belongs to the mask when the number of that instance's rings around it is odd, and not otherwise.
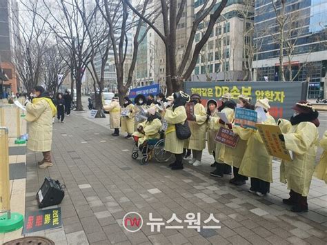
[{"label": "beige stone building with window grid, directly above the long banner", "polygon": [[[217,1],[216,10],[221,1]],[[249,32],[246,23],[254,11],[254,5],[246,1],[228,1],[226,8],[217,19],[210,38],[202,48],[197,65],[191,76],[192,81],[237,81],[244,79],[244,41]],[[249,1],[251,2],[251,1]],[[253,2],[253,1],[252,1]],[[207,1],[195,1],[195,15]],[[207,3],[210,6],[211,1]],[[213,11],[212,10],[212,11]],[[249,18],[248,18],[249,17]],[[194,46],[206,32],[210,15],[199,24],[195,35]],[[248,37],[250,39],[251,37]]]}]

